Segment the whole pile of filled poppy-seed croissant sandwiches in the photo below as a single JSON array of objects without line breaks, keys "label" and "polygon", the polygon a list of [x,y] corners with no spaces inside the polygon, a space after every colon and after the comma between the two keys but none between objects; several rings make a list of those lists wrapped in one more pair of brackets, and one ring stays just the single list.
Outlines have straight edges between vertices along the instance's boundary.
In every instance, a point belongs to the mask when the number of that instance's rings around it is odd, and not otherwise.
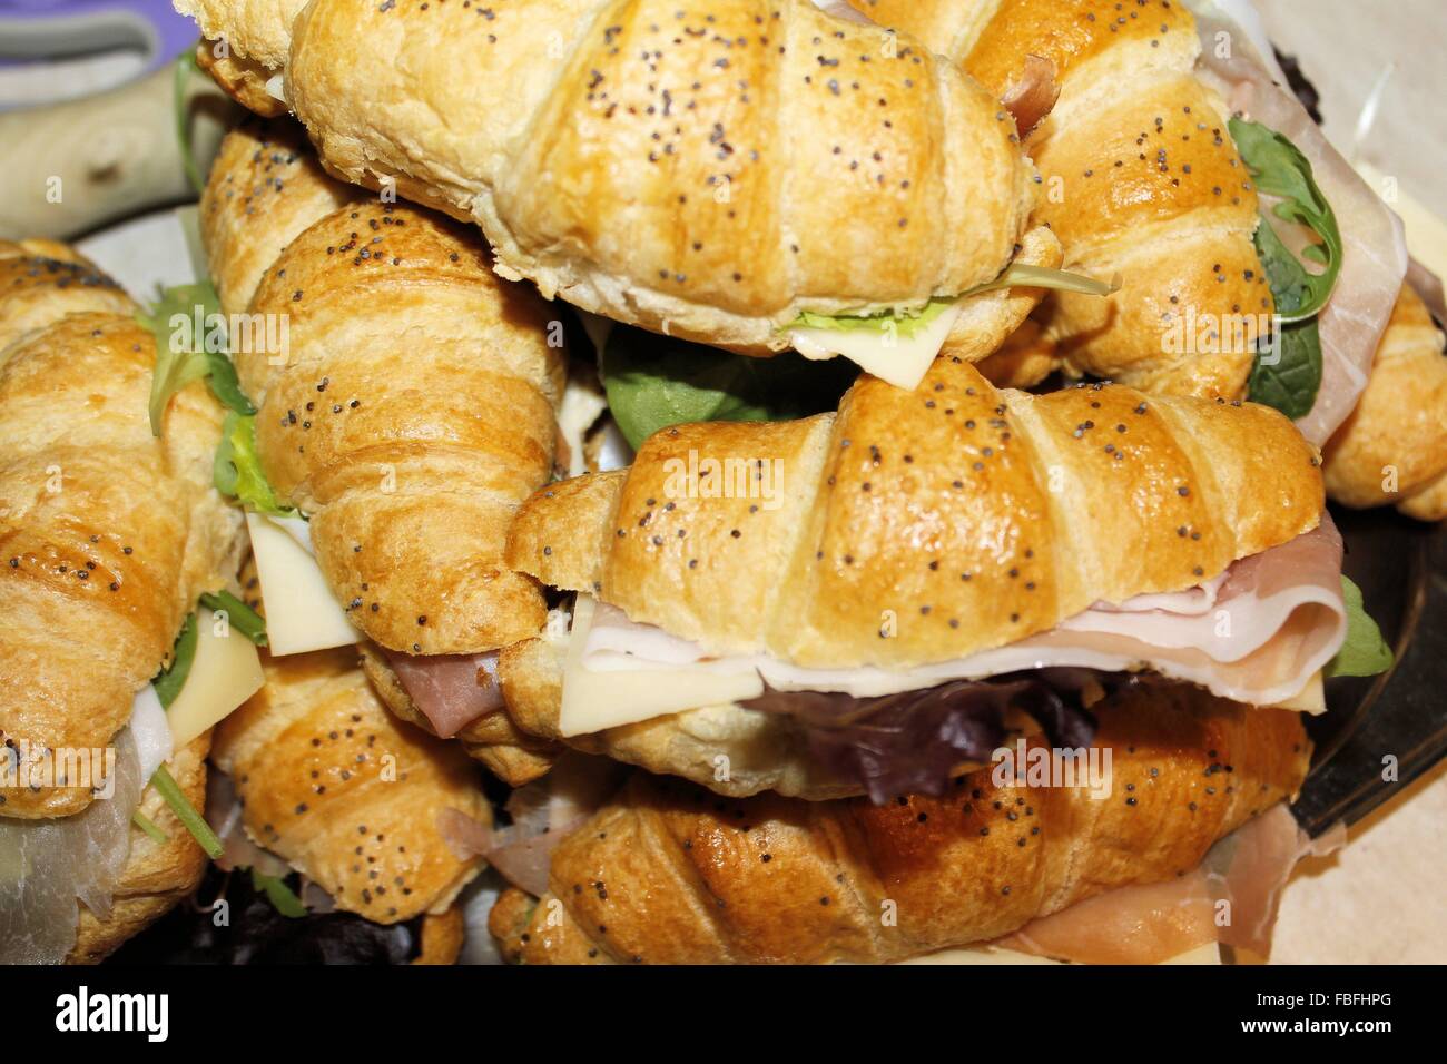
[{"label": "whole pile of filled poppy-seed croissant sandwiches", "polygon": [[485,864],[512,961],[1265,953],[1302,715],[1391,664],[1327,494],[1447,512],[1447,360],[1260,64],[1163,0],[178,7],[260,116],[211,282],[0,249],[0,731],[120,751],[0,790],[7,960],[203,850],[421,960]]}]

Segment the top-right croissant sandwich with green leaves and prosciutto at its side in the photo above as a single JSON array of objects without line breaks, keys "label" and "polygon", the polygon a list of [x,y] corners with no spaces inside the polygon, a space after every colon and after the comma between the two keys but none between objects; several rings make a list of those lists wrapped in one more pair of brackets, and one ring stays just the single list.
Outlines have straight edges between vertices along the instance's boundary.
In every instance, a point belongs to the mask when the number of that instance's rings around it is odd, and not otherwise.
[{"label": "top-right croissant sandwich with green leaves and prosciutto at its side", "polygon": [[[1058,91],[1026,139],[1035,220],[1066,268],[1121,279],[1108,298],[1042,305],[1066,372],[1252,398],[1325,443],[1362,394],[1406,246],[1259,29],[1181,0],[849,3],[1007,98]],[[1049,362],[1010,369],[1027,372],[1001,382],[1029,385]]]}]

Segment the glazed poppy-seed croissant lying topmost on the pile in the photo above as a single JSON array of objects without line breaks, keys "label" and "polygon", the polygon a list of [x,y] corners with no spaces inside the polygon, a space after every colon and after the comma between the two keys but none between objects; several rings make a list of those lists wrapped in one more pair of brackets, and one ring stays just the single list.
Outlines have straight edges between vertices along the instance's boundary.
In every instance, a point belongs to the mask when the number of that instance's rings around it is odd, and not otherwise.
[{"label": "glazed poppy-seed croissant lying topmost on the pile", "polygon": [[778,350],[803,310],[959,295],[1033,200],[991,93],[807,0],[177,7],[285,71],[334,172],[476,219],[504,275],[673,336]]}]

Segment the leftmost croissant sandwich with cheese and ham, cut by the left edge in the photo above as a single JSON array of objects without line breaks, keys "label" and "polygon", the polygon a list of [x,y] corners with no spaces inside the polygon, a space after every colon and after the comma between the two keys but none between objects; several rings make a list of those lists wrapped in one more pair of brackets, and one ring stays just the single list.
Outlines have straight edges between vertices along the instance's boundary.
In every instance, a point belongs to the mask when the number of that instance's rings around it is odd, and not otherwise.
[{"label": "leftmost croissant sandwich with cheese and ham, cut by the left edge", "polygon": [[0,958],[93,961],[201,874],[210,727],[260,682],[224,604],[192,615],[240,515],[207,385],[148,421],[158,340],[110,278],[4,243],[0,292]]}]

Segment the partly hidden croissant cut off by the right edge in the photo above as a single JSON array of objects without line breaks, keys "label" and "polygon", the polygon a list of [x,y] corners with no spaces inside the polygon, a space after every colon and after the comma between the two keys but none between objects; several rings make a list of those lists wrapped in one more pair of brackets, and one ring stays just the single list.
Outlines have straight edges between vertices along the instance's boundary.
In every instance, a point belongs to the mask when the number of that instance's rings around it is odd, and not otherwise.
[{"label": "partly hidden croissant cut off by the right edge", "polygon": [[1402,285],[1366,391],[1325,446],[1327,494],[1349,507],[1447,517],[1447,358],[1422,297]]}]

